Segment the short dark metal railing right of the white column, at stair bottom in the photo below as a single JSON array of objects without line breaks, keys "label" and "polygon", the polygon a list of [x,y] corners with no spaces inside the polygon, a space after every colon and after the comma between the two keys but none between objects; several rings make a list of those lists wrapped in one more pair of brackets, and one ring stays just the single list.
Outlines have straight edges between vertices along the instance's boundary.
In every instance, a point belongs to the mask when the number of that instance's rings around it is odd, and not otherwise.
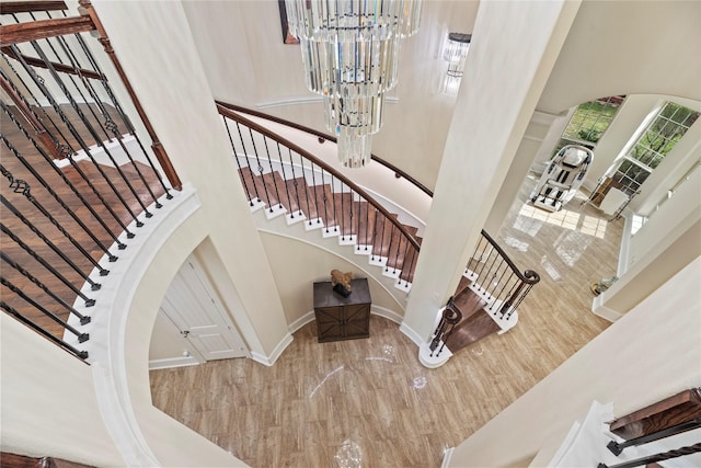
[{"label": "short dark metal railing right of the white column, at stair bottom", "polygon": [[484,310],[504,320],[512,318],[533,285],[540,281],[538,273],[532,270],[521,273],[484,230],[466,269],[466,277],[472,282],[470,288],[486,300]]}]

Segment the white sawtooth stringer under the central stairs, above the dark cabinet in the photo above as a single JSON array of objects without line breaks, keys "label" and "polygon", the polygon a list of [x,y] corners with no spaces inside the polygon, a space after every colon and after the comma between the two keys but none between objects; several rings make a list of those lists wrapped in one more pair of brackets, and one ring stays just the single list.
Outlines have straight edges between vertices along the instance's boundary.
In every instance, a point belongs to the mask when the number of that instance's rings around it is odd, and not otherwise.
[{"label": "white sawtooth stringer under the central stairs, above the dark cabinet", "polygon": [[306,221],[288,224],[285,216],[268,218],[265,216],[265,212],[266,209],[252,209],[252,216],[260,232],[295,239],[344,259],[375,279],[394,299],[401,310],[405,310],[411,284],[405,287],[402,282],[402,285],[399,286],[395,277],[383,274],[383,266],[369,263],[368,254],[355,253],[355,243],[340,243],[338,236],[324,236],[323,224],[317,228],[308,229]]}]

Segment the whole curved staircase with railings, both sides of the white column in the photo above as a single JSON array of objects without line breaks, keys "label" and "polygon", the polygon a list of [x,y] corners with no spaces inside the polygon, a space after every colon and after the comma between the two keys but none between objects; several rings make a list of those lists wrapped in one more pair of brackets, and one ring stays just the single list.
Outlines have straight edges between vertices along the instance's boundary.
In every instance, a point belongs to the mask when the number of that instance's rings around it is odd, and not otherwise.
[{"label": "whole curved staircase with railings, both sides of the white column", "polygon": [[[381,197],[369,195],[309,151],[246,118],[243,110],[220,102],[217,106],[258,229],[298,238],[345,258],[382,284],[403,307],[422,240],[417,227],[400,221],[411,216],[387,209],[378,202]],[[258,213],[264,216],[256,216]],[[315,231],[321,236],[313,237]],[[368,264],[377,269],[364,266],[355,255],[367,255]],[[530,270],[521,273],[482,231],[456,294],[437,312],[430,345],[421,346],[422,362],[438,366],[458,350],[513,328],[518,321],[516,308],[539,279]],[[448,353],[441,355],[446,349]]]}]

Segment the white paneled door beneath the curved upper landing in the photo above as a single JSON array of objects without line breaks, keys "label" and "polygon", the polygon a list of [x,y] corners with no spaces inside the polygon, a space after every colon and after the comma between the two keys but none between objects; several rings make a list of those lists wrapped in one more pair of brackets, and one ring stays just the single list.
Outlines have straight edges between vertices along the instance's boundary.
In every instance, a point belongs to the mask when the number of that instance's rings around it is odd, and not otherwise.
[{"label": "white paneled door beneath the curved upper landing", "polygon": [[248,356],[243,340],[194,256],[187,258],[173,278],[161,312],[205,361]]}]

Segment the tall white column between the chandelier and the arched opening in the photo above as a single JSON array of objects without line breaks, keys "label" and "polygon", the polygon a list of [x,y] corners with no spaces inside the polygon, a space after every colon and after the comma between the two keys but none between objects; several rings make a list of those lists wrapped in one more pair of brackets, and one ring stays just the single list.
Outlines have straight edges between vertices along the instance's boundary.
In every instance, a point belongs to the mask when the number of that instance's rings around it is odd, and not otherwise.
[{"label": "tall white column between the chandelier and the arched opening", "polygon": [[482,2],[402,331],[427,340],[502,189],[579,1]]}]

